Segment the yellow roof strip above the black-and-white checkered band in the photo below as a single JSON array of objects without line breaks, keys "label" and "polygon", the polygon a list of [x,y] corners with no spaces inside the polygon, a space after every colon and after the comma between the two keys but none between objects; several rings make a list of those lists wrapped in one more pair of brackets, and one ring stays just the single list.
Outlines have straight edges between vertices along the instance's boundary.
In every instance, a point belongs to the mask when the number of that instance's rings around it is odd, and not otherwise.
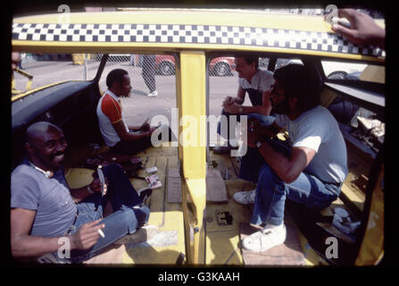
[{"label": "yellow roof strip above the black-and-white checkered band", "polygon": [[[156,21],[154,21],[156,20]],[[61,13],[28,16],[14,19],[15,23],[60,23]],[[129,12],[71,13],[69,23],[131,23],[140,24],[192,24],[229,25],[246,27],[268,27],[270,29],[298,29],[311,31],[331,31],[323,16],[267,13],[262,11],[230,10],[137,10]],[[384,27],[383,21],[378,25]]]}]

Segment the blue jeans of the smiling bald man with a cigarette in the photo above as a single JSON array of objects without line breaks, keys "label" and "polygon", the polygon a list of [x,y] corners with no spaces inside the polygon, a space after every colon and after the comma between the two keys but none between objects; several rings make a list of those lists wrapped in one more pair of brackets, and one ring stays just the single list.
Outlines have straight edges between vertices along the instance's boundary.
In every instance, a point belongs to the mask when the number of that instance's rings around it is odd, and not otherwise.
[{"label": "blue jeans of the smiling bald man with a cigarette", "polygon": [[77,205],[79,216],[70,229],[72,234],[79,231],[83,224],[101,219],[109,201],[113,213],[100,222],[105,224],[103,229],[105,237],[100,236],[96,244],[87,250],[71,250],[72,263],[81,263],[95,257],[104,248],[126,234],[134,233],[148,221],[150,215],[148,207],[133,208],[133,206],[140,206],[142,200],[121,167],[118,164],[109,164],[104,167],[103,172],[108,180],[106,196],[102,198],[100,193],[95,193],[79,203]]}]

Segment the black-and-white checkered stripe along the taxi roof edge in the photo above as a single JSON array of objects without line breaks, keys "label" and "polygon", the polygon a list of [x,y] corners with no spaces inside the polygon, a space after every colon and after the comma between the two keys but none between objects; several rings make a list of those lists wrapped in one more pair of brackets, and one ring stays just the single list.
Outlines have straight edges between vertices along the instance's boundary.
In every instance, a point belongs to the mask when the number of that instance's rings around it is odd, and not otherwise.
[{"label": "black-and-white checkered stripe along the taxi roof edge", "polygon": [[356,46],[333,33],[212,25],[12,24],[12,39],[99,43],[179,43],[270,46],[300,50],[386,56],[373,46]]}]

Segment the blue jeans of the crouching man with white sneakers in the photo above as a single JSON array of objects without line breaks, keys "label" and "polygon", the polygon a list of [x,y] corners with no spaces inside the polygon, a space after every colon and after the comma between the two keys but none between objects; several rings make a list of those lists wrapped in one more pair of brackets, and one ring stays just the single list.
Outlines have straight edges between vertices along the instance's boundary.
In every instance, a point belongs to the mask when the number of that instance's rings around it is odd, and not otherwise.
[{"label": "blue jeans of the crouching man with white sneakers", "polygon": [[[266,140],[277,152],[289,156],[290,149],[275,139]],[[239,177],[257,183],[254,213],[251,223],[280,225],[284,222],[286,199],[312,209],[322,209],[337,199],[341,185],[320,181],[316,176],[301,172],[291,182],[282,181],[271,169],[258,148],[248,147],[242,158]]]}]

